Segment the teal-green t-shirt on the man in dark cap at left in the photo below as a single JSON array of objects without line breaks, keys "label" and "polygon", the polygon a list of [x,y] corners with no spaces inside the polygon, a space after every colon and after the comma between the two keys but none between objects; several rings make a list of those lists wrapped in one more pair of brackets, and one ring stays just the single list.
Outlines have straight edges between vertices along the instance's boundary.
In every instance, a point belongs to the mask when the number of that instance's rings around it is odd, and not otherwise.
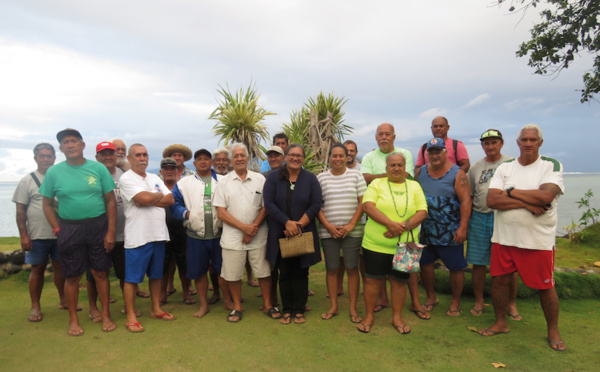
[{"label": "teal-green t-shirt on the man in dark cap at left", "polygon": [[58,198],[58,216],[67,220],[83,220],[106,213],[104,194],[115,188],[115,182],[103,164],[86,160],[83,165],[66,161],[46,172],[40,194]]}]

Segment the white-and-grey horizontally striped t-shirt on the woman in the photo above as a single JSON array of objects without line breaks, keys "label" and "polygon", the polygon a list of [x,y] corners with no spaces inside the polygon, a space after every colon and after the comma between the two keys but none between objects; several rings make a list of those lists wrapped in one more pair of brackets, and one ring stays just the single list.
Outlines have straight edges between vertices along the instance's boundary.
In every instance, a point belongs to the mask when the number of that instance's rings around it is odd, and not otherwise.
[{"label": "white-and-grey horizontally striped t-shirt on the woman", "polygon": [[[358,208],[358,198],[367,191],[365,179],[357,170],[346,169],[344,174],[333,175],[331,170],[327,170],[317,176],[323,191],[323,206],[321,209],[329,223],[336,226],[344,226],[352,219],[356,208]],[[363,225],[357,223],[354,229],[348,233],[348,236],[361,237],[363,235]],[[329,231],[321,224],[319,226],[319,237],[321,239],[331,238]]]}]

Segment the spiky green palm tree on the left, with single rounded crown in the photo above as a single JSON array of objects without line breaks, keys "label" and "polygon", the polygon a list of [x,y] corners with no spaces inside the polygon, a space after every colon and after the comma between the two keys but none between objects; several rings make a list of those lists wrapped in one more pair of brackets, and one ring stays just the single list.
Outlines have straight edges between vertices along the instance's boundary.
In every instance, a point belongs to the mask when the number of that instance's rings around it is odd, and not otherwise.
[{"label": "spiky green palm tree on the left, with single rounded crown", "polygon": [[225,145],[241,142],[248,147],[250,153],[249,164],[256,169],[259,159],[264,159],[260,150],[261,141],[269,141],[267,127],[261,124],[265,116],[275,115],[258,104],[260,96],[252,83],[246,90],[231,93],[229,86],[226,89],[219,85],[217,92],[221,95],[217,99],[219,106],[208,117],[216,120],[213,133],[220,136],[219,143]]}]

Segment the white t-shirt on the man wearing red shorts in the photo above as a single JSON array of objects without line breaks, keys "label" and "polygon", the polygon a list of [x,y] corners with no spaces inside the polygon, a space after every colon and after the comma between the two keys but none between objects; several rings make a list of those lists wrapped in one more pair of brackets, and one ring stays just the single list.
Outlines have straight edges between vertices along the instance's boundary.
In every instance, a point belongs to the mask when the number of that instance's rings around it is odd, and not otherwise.
[{"label": "white t-shirt on the man wearing red shorts", "polygon": [[[562,164],[544,156],[527,166],[517,159],[500,164],[496,169],[490,190],[506,190],[514,187],[518,190],[538,190],[545,183],[553,183],[564,193]],[[552,250],[556,241],[558,223],[558,199],[556,195],[550,209],[541,216],[531,214],[525,208],[507,211],[494,211],[494,235],[492,243],[509,245],[524,249]]]}]

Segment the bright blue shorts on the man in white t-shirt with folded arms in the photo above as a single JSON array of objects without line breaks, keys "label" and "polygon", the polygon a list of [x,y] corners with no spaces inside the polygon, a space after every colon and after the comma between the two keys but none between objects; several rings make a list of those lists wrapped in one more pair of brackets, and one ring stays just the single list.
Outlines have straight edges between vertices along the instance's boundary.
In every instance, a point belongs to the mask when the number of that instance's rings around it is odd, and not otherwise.
[{"label": "bright blue shorts on the man in white t-shirt with folded arms", "polygon": [[125,249],[125,281],[141,283],[144,276],[161,279],[165,260],[165,242],[150,242],[137,248]]}]

